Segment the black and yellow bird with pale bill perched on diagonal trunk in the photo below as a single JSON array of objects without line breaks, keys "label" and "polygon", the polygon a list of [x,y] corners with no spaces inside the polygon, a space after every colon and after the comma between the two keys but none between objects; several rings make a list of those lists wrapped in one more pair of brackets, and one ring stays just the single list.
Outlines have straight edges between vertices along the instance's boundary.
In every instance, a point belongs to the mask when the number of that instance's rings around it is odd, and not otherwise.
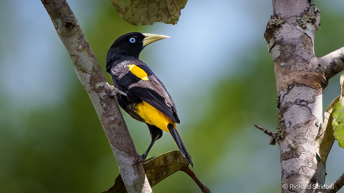
[{"label": "black and yellow bird with pale bill perched on diagonal trunk", "polygon": [[180,123],[175,104],[164,84],[152,70],[139,60],[142,49],[150,43],[169,36],[132,32],[124,34],[111,45],[106,56],[106,71],[114,81],[113,92],[119,106],[131,117],[146,123],[151,143],[138,163],[143,162],[162,131],[169,132],[184,157],[193,167],[190,155],[179,136],[176,123]]}]

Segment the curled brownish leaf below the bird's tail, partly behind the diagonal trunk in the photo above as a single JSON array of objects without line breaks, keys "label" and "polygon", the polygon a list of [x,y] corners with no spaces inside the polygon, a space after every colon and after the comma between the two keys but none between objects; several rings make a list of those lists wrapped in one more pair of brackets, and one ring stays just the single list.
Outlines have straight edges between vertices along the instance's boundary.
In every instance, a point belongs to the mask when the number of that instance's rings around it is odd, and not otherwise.
[{"label": "curled brownish leaf below the bird's tail, partly behind the diagonal trunk", "polygon": [[[180,151],[169,151],[143,163],[151,187],[185,167],[189,167],[189,161]],[[114,186],[102,193],[127,193],[121,175],[116,178]]]}]

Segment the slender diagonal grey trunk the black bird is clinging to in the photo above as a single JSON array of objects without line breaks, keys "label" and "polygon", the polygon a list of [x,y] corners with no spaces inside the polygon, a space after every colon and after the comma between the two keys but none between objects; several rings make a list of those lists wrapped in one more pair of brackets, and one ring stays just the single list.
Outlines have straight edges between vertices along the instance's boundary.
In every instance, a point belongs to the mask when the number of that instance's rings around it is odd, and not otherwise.
[{"label": "slender diagonal grey trunk the black bird is clinging to", "polygon": [[152,192],[128,128],[111,93],[99,63],[65,0],[41,0],[58,36],[71,56],[76,74],[91,99],[114,152],[123,182],[129,193]]}]

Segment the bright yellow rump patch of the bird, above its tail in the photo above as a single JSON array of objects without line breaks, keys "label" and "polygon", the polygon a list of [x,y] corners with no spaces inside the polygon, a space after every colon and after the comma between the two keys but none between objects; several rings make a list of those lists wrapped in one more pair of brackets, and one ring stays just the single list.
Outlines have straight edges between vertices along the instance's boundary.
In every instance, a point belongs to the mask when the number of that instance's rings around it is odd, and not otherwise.
[{"label": "bright yellow rump patch of the bird, above its tail", "polygon": [[137,110],[135,112],[139,114],[146,123],[155,125],[165,132],[169,132],[169,129],[167,128],[169,123],[177,129],[175,122],[172,121],[170,117],[166,116],[158,109],[155,109],[150,104],[142,101],[141,103],[136,104],[135,108]]}]

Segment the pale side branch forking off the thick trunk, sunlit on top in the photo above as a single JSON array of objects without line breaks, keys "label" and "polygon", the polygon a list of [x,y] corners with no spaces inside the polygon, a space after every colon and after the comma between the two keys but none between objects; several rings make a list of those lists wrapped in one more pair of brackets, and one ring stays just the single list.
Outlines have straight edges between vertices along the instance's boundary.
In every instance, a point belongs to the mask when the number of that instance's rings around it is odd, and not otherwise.
[{"label": "pale side branch forking off the thick trunk, sunlit on top", "polygon": [[325,76],[327,80],[344,70],[344,47],[321,57],[326,65],[324,65]]}]

